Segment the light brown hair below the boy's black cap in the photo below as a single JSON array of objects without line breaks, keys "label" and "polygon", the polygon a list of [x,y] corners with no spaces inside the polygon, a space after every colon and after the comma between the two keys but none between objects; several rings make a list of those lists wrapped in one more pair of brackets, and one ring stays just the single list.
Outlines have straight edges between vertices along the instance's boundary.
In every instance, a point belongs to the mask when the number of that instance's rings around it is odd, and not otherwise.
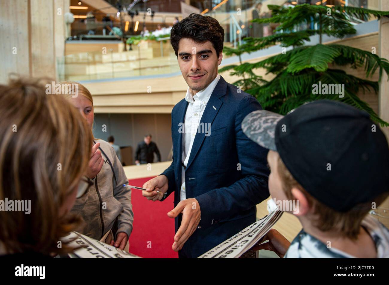
[{"label": "light brown hair below the boy's black cap", "polygon": [[376,202],[377,205],[384,202],[388,193],[383,193],[371,201],[357,204],[347,212],[338,212],[334,209],[324,205],[310,195],[301,185],[298,183],[286,168],[284,162],[280,156],[277,161],[277,171],[279,173],[282,188],[286,194],[286,197],[290,200],[294,200],[291,193],[292,188],[298,188],[307,198],[309,206],[314,209],[314,215],[317,217],[313,221],[313,225],[321,231],[335,231],[340,236],[348,237],[352,240],[356,240],[359,234],[361,223],[363,218],[371,210],[371,203]]}]

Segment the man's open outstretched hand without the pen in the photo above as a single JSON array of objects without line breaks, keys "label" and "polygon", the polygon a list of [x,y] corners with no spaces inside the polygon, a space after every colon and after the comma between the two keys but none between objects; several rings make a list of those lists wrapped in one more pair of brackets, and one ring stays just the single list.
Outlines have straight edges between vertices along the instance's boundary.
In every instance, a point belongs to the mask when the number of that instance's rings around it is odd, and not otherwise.
[{"label": "man's open outstretched hand without the pen", "polygon": [[182,200],[172,211],[168,212],[168,216],[169,218],[175,218],[180,213],[182,213],[182,221],[180,228],[174,236],[172,245],[172,249],[176,252],[182,249],[200,223],[201,211],[198,201],[195,198]]}]

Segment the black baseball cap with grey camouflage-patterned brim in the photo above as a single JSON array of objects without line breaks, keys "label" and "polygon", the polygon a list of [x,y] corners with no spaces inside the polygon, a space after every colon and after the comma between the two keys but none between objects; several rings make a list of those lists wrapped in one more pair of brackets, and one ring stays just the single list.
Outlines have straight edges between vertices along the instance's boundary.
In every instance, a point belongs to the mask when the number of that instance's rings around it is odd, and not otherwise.
[{"label": "black baseball cap with grey camouflage-patterned brim", "polygon": [[242,130],[262,147],[277,151],[294,179],[319,202],[347,212],[389,191],[389,147],[368,113],[318,100],[286,116],[258,110]]}]

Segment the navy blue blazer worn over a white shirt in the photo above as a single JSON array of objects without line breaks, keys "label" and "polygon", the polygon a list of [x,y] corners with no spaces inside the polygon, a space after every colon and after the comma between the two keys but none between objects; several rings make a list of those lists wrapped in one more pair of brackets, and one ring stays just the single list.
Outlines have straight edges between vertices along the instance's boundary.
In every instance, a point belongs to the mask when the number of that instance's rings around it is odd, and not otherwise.
[{"label": "navy blue blazer worn over a white shirt", "polygon": [[[180,202],[187,106],[182,99],[173,107],[173,162],[162,173],[168,178],[167,196],[174,192],[174,207]],[[184,244],[180,257],[198,257],[254,223],[256,204],[269,197],[267,150],[247,138],[241,128],[244,117],[260,109],[256,98],[220,76],[200,121],[200,125],[210,123],[210,132],[196,133],[185,170],[186,198],[198,200],[201,228]],[[176,232],[181,216],[175,218]]]}]

